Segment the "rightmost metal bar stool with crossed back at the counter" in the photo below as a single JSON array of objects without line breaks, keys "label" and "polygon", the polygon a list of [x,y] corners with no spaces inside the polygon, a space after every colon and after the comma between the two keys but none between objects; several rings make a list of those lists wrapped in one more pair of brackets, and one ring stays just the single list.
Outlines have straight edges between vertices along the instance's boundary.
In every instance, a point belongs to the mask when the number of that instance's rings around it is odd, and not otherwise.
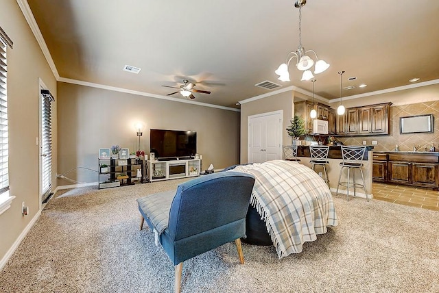
[{"label": "rightmost metal bar stool with crossed back at the counter", "polygon": [[[348,194],[348,201],[349,201],[350,186],[354,190],[354,196],[355,196],[355,188],[364,188],[364,194],[366,194],[366,200],[369,201],[368,193],[366,192],[366,184],[364,183],[363,170],[361,169],[364,166],[363,165],[364,153],[366,153],[366,146],[342,146],[343,161],[340,163],[340,166],[342,166],[342,168],[340,169],[340,176],[338,177],[336,194],[338,195],[338,188],[340,186],[346,187],[347,188],[346,191]],[[342,179],[342,172],[344,168],[348,168],[348,178],[346,182],[340,182],[340,179]],[[350,177],[351,169],[352,169],[352,182]],[[363,184],[355,182],[355,169],[360,171],[361,178],[363,179]]]}]

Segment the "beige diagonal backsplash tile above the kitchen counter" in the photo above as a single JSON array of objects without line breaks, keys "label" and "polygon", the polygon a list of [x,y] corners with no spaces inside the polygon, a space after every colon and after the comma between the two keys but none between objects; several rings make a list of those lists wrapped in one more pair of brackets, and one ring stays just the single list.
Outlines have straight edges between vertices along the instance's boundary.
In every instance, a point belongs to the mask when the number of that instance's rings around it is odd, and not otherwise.
[{"label": "beige diagonal backsplash tile above the kitchen counter", "polygon": [[[399,133],[399,118],[421,114],[433,114],[434,133]],[[413,144],[419,145],[418,151],[425,151],[425,149],[429,150],[431,143],[434,143],[436,151],[439,151],[439,101],[392,105],[389,127],[390,136],[356,136],[337,139],[346,145],[361,145],[364,140],[371,145],[372,140],[376,140],[378,144],[374,148],[375,151],[394,151],[396,144],[399,144],[399,151],[412,151]]]}]

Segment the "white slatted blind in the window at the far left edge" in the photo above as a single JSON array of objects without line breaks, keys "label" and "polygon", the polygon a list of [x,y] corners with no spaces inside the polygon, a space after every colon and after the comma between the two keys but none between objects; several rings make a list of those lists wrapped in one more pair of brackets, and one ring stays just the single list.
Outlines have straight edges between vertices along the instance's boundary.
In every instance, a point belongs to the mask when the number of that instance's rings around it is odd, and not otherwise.
[{"label": "white slatted blind in the window at the far left edge", "polygon": [[0,35],[0,194],[9,190],[6,42]]}]

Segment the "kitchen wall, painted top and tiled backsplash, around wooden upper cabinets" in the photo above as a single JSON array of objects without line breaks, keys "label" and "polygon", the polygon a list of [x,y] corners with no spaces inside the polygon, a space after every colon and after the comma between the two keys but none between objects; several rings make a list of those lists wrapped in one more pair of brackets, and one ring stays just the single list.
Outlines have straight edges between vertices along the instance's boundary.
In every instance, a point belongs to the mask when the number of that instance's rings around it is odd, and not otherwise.
[{"label": "kitchen wall, painted top and tiled backsplash, around wooden upper cabinets", "polygon": [[[393,151],[395,144],[399,144],[400,151],[412,151],[413,144],[420,146],[420,150],[429,148],[434,143],[436,150],[439,150],[439,84],[389,92],[367,98],[351,99],[344,101],[346,107],[357,107],[371,105],[374,103],[392,102],[390,107],[390,135],[389,136],[353,136],[341,138],[345,144],[358,145],[365,140],[366,144],[377,141],[375,151]],[[340,103],[333,103],[335,108]],[[399,118],[403,116],[414,116],[420,114],[433,114],[434,133],[399,133]]]}]

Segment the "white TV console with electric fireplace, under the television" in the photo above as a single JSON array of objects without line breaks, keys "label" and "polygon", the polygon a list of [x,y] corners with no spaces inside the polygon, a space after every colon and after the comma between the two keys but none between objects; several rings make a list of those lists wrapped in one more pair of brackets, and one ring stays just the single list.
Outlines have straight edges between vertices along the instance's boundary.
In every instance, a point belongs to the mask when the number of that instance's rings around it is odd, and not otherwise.
[{"label": "white TV console with electric fireplace, under the television", "polygon": [[200,175],[201,160],[147,161],[150,182]]}]

